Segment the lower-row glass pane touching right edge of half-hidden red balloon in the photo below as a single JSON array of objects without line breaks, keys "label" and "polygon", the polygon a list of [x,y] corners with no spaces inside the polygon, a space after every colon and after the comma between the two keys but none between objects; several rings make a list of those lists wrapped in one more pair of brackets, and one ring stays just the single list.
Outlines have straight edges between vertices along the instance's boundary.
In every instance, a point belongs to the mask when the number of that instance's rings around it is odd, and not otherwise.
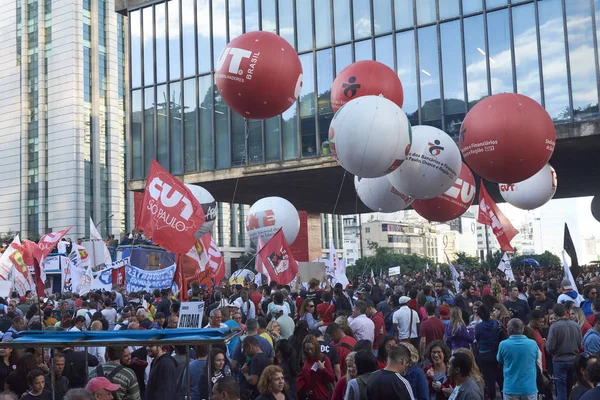
[{"label": "lower-row glass pane touching right edge of half-hidden red balloon", "polygon": [[412,125],[419,124],[417,97],[417,65],[415,57],[415,33],[406,31],[396,34],[398,77],[404,90],[402,109]]}]

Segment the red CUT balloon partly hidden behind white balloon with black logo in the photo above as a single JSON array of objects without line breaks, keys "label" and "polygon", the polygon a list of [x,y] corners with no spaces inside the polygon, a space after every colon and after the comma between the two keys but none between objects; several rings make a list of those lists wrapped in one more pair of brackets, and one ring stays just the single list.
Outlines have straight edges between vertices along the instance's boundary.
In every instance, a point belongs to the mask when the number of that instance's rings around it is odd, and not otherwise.
[{"label": "red CUT balloon partly hidden behind white balloon with black logo", "polygon": [[451,221],[463,215],[475,199],[475,178],[462,163],[458,179],[443,195],[429,200],[415,200],[413,209],[421,217],[436,222]]}]

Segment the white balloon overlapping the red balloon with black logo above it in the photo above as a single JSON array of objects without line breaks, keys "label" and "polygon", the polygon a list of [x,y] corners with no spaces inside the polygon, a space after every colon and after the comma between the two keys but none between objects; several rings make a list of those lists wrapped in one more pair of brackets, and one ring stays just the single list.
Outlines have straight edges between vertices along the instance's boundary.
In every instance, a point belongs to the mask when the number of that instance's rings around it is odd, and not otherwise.
[{"label": "white balloon overlapping the red balloon with black logo above it", "polygon": [[406,114],[382,96],[348,102],[329,127],[333,155],[344,169],[361,178],[377,178],[398,168],[410,138]]}]

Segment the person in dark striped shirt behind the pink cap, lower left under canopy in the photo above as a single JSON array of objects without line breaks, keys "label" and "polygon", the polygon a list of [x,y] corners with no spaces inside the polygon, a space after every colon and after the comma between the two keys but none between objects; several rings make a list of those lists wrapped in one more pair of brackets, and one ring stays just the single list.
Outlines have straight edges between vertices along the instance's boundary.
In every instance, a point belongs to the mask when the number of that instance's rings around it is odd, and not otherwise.
[{"label": "person in dark striped shirt behind the pink cap, lower left under canopy", "polygon": [[140,388],[133,370],[121,365],[123,347],[109,346],[106,348],[107,362],[98,365],[90,371],[90,379],[105,377],[111,383],[119,385],[114,392],[116,400],[141,400]]}]

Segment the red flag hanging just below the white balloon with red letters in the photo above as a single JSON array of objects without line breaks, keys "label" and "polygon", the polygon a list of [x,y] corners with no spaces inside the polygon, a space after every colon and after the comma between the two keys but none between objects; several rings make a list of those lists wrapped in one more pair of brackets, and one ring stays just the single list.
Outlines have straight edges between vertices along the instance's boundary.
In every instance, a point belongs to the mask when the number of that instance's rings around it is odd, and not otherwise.
[{"label": "red flag hanging just below the white balloon with red letters", "polygon": [[287,285],[298,274],[298,263],[281,229],[260,249],[257,257],[260,257],[269,278],[278,284]]}]

